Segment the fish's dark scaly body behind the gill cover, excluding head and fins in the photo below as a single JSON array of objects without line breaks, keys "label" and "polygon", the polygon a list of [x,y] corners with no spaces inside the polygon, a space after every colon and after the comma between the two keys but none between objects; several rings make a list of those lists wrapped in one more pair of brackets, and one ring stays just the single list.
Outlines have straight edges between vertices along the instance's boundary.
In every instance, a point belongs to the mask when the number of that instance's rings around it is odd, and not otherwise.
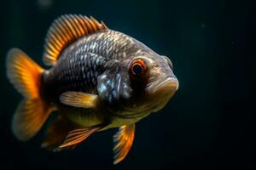
[{"label": "fish's dark scaly body behind the gill cover, excluding head and fins", "polygon": [[106,30],[82,37],[63,51],[54,67],[43,73],[44,96],[58,107],[61,114],[81,126],[111,122],[108,127],[120,127],[137,122],[147,114],[136,119],[123,118],[111,115],[104,108],[84,110],[65,106],[59,98],[67,91],[97,94],[97,77],[106,70],[104,66],[109,60],[122,60],[149,52],[154,53],[141,42],[118,31]]}]

